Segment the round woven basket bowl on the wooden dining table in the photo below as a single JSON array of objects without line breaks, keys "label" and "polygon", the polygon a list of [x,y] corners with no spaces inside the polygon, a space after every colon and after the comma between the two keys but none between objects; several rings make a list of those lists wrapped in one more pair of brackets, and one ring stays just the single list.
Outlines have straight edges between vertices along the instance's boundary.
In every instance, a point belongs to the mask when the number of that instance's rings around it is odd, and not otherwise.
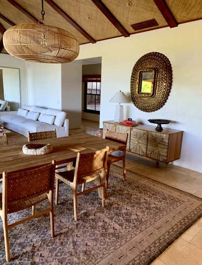
[{"label": "round woven basket bowl on the wooden dining table", "polygon": [[27,143],[22,147],[22,152],[25,155],[45,155],[53,151],[53,146],[46,143]]}]

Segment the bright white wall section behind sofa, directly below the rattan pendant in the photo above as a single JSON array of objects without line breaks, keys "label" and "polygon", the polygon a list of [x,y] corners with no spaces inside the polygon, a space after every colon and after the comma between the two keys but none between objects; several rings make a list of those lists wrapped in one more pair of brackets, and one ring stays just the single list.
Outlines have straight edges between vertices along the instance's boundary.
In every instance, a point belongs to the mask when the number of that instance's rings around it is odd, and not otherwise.
[{"label": "bright white wall section behind sofa, directly below the rattan pendant", "polygon": [[62,109],[61,64],[27,62],[26,104]]}]

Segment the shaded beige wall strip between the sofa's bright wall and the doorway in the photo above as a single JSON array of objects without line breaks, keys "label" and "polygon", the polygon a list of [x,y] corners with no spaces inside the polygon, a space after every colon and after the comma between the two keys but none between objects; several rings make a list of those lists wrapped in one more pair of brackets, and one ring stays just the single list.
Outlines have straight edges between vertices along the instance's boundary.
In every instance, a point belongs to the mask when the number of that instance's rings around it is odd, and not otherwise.
[{"label": "shaded beige wall strip between the sofa's bright wall and the doorway", "polygon": [[67,112],[70,129],[81,128],[82,65],[62,64],[62,109]]}]

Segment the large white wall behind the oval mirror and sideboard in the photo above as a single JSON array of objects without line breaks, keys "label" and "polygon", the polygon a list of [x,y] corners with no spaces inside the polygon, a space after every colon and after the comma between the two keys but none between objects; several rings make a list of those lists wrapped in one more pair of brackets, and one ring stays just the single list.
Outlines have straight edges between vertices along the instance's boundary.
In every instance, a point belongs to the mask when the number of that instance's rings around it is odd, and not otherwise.
[{"label": "large white wall behind the oval mirror and sideboard", "polygon": [[173,86],[167,103],[156,112],[125,106],[125,118],[148,124],[147,119],[175,121],[168,127],[184,131],[181,159],[176,165],[202,172],[202,21],[120,37],[80,47],[78,59],[102,56],[102,93],[100,126],[114,118],[115,105],[110,98],[118,91],[130,93],[133,65],[145,53],[161,52],[171,61]]}]

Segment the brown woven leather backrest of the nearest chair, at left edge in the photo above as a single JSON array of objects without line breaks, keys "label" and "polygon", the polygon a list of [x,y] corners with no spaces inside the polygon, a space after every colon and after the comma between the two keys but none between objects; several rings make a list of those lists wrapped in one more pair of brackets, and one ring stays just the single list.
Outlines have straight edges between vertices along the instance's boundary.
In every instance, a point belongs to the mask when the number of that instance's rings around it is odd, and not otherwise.
[{"label": "brown woven leather backrest of the nearest chair, at left edge", "polygon": [[53,161],[43,166],[3,172],[3,202],[24,202],[50,190],[54,191],[55,168]]}]

